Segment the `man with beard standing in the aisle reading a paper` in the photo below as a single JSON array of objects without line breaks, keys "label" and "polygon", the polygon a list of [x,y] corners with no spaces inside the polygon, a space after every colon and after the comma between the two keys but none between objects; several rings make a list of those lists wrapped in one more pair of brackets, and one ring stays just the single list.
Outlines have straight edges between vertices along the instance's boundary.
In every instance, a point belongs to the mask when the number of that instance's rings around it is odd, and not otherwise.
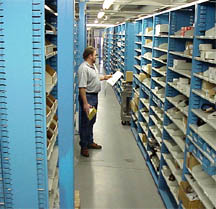
[{"label": "man with beard standing in the aisle reading a paper", "polygon": [[88,119],[89,109],[98,106],[98,93],[101,90],[102,80],[107,80],[111,75],[99,77],[97,70],[94,67],[96,62],[96,49],[87,47],[83,53],[84,62],[78,70],[79,79],[79,103],[81,109],[80,122],[80,146],[81,155],[89,157],[88,149],[101,149],[102,146],[94,142],[93,125],[96,122],[96,115],[92,120]]}]

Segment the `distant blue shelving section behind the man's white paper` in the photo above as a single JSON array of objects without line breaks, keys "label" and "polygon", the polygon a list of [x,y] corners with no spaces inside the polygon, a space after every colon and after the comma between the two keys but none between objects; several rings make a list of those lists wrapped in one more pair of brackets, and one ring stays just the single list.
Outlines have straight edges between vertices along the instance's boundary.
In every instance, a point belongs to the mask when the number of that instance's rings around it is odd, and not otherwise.
[{"label": "distant blue shelving section behind the man's white paper", "polygon": [[[120,24],[107,28],[104,35],[104,68],[108,74],[120,71],[133,71],[134,23]],[[114,88],[116,97],[121,103],[122,81]]]}]

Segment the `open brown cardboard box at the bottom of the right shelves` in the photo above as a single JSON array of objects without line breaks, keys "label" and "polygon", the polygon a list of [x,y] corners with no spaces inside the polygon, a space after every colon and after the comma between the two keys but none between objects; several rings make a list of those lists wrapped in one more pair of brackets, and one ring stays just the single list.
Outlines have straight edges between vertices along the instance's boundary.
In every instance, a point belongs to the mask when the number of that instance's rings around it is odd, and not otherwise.
[{"label": "open brown cardboard box at the bottom of the right shelves", "polygon": [[189,199],[191,193],[187,193],[188,187],[190,187],[190,185],[187,181],[182,181],[180,183],[178,198],[182,201],[184,207],[186,209],[204,209],[199,199]]}]

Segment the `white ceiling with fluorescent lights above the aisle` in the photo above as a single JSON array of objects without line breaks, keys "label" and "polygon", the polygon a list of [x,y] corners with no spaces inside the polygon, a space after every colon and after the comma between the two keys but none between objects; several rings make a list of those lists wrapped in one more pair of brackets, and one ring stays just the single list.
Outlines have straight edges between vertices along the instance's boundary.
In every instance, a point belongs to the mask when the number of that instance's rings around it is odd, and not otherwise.
[{"label": "white ceiling with fluorescent lights above the aisle", "polygon": [[[98,19],[98,23],[119,24],[125,21],[133,21],[139,17],[192,1],[194,0],[115,0],[108,10],[104,10],[105,15]],[[86,2],[87,24],[95,23],[98,12],[103,11],[103,2],[104,0],[88,0]],[[76,3],[78,15],[78,0],[76,0]]]}]

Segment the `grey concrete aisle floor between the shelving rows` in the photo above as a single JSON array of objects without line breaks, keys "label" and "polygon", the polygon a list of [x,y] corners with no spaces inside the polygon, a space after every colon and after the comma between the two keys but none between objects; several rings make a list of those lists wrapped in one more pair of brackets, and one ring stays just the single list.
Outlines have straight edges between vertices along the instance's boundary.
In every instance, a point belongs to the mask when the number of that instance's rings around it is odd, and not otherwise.
[{"label": "grey concrete aisle floor between the shelving rows", "polygon": [[[105,95],[106,93],[106,95]],[[80,156],[75,142],[75,188],[81,209],[165,208],[129,126],[122,126],[120,105],[111,87],[99,96],[94,139],[103,149]]]}]

